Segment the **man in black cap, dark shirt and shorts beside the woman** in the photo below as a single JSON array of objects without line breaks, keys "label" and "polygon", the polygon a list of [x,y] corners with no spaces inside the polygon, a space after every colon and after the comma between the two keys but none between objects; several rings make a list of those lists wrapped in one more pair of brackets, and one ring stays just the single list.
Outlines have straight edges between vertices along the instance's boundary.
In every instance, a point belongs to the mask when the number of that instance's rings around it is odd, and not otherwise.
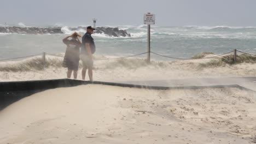
[{"label": "man in black cap, dark shirt and shorts beside the woman", "polygon": [[82,79],[85,80],[86,70],[88,69],[88,75],[90,81],[92,81],[92,67],[94,66],[94,61],[92,60],[92,54],[95,52],[94,38],[91,34],[94,33],[94,28],[91,26],[87,27],[87,32],[82,38],[83,47],[81,49],[81,60],[83,63]]}]

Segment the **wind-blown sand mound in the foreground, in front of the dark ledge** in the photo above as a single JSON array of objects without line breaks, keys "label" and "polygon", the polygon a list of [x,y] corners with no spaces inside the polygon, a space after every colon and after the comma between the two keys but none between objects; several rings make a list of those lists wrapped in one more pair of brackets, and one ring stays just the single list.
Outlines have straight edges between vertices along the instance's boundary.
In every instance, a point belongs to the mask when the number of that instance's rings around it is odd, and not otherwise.
[{"label": "wind-blown sand mound in the foreground, in front of the dark ledge", "polygon": [[256,143],[255,93],[57,88],[0,112],[0,143]]}]

